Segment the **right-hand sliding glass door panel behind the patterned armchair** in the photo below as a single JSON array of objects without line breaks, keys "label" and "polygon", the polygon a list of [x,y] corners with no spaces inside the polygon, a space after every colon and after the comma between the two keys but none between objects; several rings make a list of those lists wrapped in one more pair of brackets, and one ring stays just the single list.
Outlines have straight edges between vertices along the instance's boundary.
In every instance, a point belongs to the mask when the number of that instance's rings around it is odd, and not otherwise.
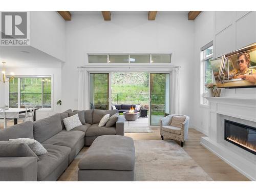
[{"label": "right-hand sliding glass door panel behind the patterned armchair", "polygon": [[150,73],[150,125],[169,114],[169,73]]}]

